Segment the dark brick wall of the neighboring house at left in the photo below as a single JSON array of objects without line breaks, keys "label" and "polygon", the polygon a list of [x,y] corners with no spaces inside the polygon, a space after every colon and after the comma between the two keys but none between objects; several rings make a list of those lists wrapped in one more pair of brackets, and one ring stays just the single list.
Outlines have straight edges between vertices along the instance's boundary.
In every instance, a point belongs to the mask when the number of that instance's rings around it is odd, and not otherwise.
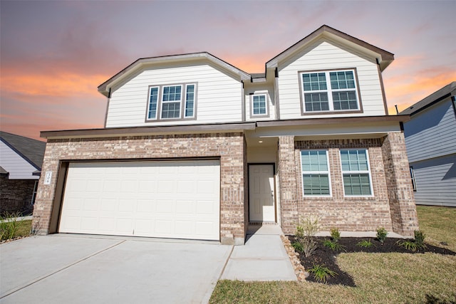
[{"label": "dark brick wall of the neighboring house at left", "polygon": [[6,212],[30,214],[31,199],[36,179],[8,179],[0,177],[0,215]]}]

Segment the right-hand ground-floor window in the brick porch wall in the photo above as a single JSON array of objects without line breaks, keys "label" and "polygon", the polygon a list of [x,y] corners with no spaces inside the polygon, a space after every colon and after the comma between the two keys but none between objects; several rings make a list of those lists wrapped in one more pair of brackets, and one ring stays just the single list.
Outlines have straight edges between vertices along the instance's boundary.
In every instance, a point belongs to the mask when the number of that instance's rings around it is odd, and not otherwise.
[{"label": "right-hand ground-floor window in the brick porch wall", "polygon": [[346,196],[371,196],[371,170],[367,150],[340,150],[343,193]]}]

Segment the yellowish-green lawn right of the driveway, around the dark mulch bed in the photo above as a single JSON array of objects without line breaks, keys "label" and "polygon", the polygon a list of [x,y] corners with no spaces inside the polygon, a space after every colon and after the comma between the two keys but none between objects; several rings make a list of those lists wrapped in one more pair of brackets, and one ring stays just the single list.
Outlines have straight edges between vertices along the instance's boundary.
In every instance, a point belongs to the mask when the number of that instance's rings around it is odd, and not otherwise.
[{"label": "yellowish-green lawn right of the driveway, around the dark mulch bed", "polygon": [[[426,242],[456,251],[456,209],[418,206]],[[356,287],[296,282],[219,281],[210,303],[456,303],[456,256],[341,253]]]}]

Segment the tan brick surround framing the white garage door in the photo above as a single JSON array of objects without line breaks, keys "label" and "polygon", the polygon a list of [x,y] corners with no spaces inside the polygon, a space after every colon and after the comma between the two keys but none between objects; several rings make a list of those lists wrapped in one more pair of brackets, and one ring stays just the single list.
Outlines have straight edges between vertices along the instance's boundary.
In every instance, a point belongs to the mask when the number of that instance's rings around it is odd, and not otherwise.
[{"label": "tan brick surround framing the white garage door", "polygon": [[[244,244],[247,149],[243,133],[150,135],[48,140],[42,172],[53,172],[51,184],[39,183],[33,225],[48,234],[61,161],[96,159],[220,159],[220,241]],[[45,174],[41,177],[43,179]],[[60,204],[60,202],[58,202]]]}]

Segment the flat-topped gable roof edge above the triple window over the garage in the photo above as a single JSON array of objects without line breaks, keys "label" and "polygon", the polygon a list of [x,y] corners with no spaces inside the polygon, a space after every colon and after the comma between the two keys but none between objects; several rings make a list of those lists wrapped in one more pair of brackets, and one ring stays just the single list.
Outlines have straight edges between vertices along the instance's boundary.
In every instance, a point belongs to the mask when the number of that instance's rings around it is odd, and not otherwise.
[{"label": "flat-topped gable roof edge above the triple window over the garage", "polygon": [[113,85],[119,83],[124,78],[128,77],[128,75],[135,73],[135,71],[140,70],[140,68],[144,67],[145,65],[153,65],[153,64],[160,64],[160,63],[173,63],[173,62],[189,62],[195,60],[207,60],[215,65],[218,65],[223,70],[227,70],[227,72],[232,73],[234,75],[239,75],[239,80],[250,80],[251,76],[244,72],[243,70],[236,68],[234,65],[231,65],[222,59],[215,57],[214,55],[201,52],[201,53],[187,53],[181,55],[170,55],[170,56],[157,56],[157,57],[147,57],[147,58],[140,58],[137,61],[131,63],[126,68],[121,70],[119,73],[115,74],[113,77],[106,80],[104,83],[98,86],[98,92],[102,93],[103,95],[109,95],[109,90]]}]

